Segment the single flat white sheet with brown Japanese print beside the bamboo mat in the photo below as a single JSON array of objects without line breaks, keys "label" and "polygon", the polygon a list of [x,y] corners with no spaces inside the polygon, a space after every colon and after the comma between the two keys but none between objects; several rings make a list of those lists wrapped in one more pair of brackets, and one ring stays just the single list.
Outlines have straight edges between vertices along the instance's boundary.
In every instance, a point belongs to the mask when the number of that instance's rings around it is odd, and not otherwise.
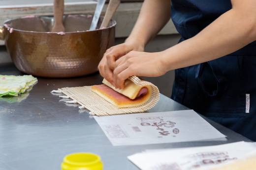
[{"label": "single flat white sheet with brown Japanese print beside the bamboo mat", "polygon": [[193,110],[94,118],[113,146],[213,140],[225,137]]}]

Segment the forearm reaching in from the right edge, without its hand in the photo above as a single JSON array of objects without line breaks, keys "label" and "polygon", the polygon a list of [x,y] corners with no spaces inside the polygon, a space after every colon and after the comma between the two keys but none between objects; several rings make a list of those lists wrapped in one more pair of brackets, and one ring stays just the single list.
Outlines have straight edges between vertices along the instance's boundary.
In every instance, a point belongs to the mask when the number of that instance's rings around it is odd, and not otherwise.
[{"label": "forearm reaching in from the right edge, without its hand", "polygon": [[254,12],[247,14],[233,6],[196,36],[163,51],[166,71],[220,58],[255,41]]}]

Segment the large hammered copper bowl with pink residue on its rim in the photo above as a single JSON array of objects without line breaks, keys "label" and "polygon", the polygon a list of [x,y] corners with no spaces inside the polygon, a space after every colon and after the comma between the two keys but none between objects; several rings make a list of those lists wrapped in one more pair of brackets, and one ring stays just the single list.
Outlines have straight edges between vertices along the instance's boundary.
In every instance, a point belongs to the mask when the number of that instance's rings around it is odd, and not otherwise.
[{"label": "large hammered copper bowl with pink residue on its rim", "polygon": [[[5,40],[15,66],[24,73],[43,77],[72,77],[97,72],[104,52],[113,46],[116,22],[88,31],[92,16],[64,15],[65,34],[50,32],[52,16],[28,16],[4,23]],[[102,22],[100,18],[97,27]]]}]

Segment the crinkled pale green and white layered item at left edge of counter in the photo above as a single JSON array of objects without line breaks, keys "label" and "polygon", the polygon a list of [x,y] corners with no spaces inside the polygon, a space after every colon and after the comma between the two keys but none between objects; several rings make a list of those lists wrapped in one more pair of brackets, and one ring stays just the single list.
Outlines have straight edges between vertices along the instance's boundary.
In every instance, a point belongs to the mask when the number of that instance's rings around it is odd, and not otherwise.
[{"label": "crinkled pale green and white layered item at left edge of counter", "polygon": [[37,82],[32,75],[0,75],[0,97],[18,96]]}]

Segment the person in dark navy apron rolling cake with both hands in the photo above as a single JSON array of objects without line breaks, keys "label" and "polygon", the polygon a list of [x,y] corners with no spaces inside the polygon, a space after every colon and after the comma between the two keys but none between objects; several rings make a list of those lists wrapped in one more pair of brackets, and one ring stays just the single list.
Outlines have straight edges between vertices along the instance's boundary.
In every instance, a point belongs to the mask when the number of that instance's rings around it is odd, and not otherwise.
[{"label": "person in dark navy apron rolling cake with both hands", "polygon": [[[255,6],[256,0],[144,0],[130,35],[106,50],[99,73],[124,88],[129,76],[175,70],[172,99],[256,141]],[[144,52],[170,17],[179,43]]]}]

